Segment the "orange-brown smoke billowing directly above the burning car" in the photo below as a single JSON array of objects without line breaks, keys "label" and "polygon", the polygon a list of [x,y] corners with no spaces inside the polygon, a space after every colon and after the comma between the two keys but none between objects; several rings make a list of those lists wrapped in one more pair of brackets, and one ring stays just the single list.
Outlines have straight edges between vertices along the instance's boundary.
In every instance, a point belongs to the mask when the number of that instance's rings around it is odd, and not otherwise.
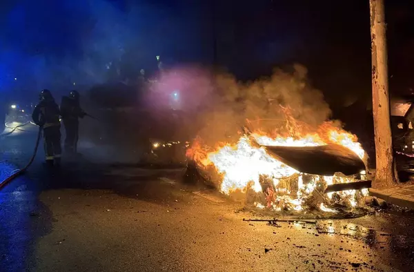
[{"label": "orange-brown smoke billowing directly above the burning car", "polygon": [[322,92],[309,84],[306,68],[298,64],[290,71],[276,69],[270,77],[248,83],[228,73],[218,73],[214,81],[216,91],[203,98],[208,106],[196,122],[197,135],[208,146],[237,141],[237,131],[245,125],[254,130],[300,133],[304,127],[316,130],[331,116]]}]

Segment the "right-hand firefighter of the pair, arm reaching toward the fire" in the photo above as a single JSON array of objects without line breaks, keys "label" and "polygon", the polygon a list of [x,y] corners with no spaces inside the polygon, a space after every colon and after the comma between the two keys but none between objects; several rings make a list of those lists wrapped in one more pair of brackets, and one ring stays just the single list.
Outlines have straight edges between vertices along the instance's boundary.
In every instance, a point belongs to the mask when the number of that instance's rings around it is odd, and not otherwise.
[{"label": "right-hand firefighter of the pair, arm reaching toward the fire", "polygon": [[80,106],[80,95],[76,90],[72,90],[69,97],[63,97],[61,115],[66,130],[65,152],[75,155],[79,139],[79,118],[86,115]]}]

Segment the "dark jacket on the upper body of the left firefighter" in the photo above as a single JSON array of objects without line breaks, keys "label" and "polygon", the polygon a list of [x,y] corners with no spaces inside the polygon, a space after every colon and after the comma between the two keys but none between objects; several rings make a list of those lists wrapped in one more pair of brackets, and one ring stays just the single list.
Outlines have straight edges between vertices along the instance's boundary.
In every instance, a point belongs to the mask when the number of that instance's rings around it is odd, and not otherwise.
[{"label": "dark jacket on the upper body of the left firefighter", "polygon": [[60,110],[55,100],[43,100],[34,108],[32,119],[37,126],[48,128],[50,126],[60,126]]}]

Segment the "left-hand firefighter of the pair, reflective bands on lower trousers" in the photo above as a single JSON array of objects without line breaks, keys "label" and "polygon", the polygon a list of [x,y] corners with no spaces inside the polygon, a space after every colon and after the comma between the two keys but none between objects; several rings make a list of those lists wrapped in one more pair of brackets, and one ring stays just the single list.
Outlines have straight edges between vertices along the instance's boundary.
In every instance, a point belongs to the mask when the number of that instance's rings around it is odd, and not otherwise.
[{"label": "left-hand firefighter of the pair, reflective bands on lower trousers", "polygon": [[50,90],[42,90],[39,99],[39,104],[33,110],[32,119],[34,124],[43,129],[46,164],[59,166],[62,151],[59,106],[57,106]]}]

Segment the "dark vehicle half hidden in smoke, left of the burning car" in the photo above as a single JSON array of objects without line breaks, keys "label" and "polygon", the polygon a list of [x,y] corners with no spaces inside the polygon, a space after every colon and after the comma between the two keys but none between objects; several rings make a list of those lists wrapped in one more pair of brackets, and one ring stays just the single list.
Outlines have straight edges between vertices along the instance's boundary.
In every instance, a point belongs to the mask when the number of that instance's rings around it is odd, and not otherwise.
[{"label": "dark vehicle half hidden in smoke, left of the burning car", "polygon": [[193,139],[190,115],[148,104],[137,93],[134,86],[123,84],[92,89],[85,110],[99,122],[86,117],[81,134],[95,144],[115,146],[117,154],[134,163],[186,164],[186,148]]}]

